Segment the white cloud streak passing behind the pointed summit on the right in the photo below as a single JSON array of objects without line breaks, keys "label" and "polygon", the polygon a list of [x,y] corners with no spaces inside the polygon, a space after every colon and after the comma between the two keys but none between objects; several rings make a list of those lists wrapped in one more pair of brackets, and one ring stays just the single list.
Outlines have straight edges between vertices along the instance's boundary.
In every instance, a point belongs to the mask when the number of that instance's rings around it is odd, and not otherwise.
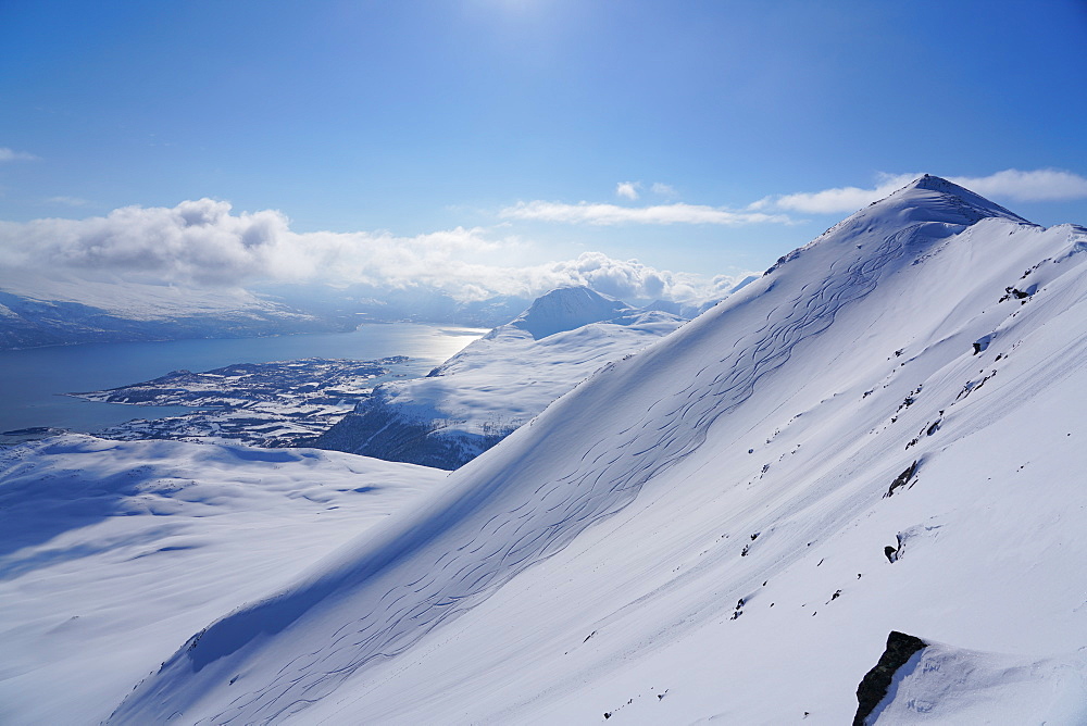
[{"label": "white cloud streak passing behind the pointed summit on the right", "polygon": [[[879,174],[871,188],[836,187],[822,191],[765,197],[748,205],[750,211],[780,209],[812,214],[838,214],[883,199],[921,174]],[[1087,178],[1054,168],[1022,172],[1008,168],[989,176],[948,176],[949,182],[995,201],[1060,201],[1087,199]]]}]

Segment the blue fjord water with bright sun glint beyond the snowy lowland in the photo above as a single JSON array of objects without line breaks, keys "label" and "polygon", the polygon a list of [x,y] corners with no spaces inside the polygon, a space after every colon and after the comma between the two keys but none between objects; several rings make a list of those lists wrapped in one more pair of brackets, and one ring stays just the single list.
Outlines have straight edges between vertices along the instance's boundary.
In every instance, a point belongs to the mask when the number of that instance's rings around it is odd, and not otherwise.
[{"label": "blue fjord water with bright sun glint beyond the snowy lowland", "polygon": [[88,343],[0,351],[0,431],[52,426],[96,431],[133,418],[177,415],[186,406],[132,406],[62,393],[114,388],[171,371],[299,358],[373,360],[408,355],[396,373],[422,376],[486,330],[448,325],[364,325],[351,333]]}]

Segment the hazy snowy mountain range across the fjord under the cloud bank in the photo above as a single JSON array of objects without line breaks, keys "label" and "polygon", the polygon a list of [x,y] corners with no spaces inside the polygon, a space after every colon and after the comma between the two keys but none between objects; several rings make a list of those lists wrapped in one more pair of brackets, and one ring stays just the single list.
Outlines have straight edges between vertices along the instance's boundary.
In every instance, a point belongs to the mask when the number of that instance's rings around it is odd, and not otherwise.
[{"label": "hazy snowy mountain range across the fjord under the cloud bank", "polygon": [[0,350],[329,333],[366,322],[490,327],[527,303],[507,297],[461,303],[429,289],[284,285],[220,290],[21,272],[0,274]]}]

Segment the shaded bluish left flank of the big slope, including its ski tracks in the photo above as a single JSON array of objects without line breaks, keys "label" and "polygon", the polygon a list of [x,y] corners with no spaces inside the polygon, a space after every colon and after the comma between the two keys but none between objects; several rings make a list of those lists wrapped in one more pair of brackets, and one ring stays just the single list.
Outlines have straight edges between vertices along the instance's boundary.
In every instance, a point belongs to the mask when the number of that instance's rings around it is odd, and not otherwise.
[{"label": "shaded bluish left flank of the big slope, including its ski tracks", "polygon": [[[448,495],[425,511],[391,523],[304,584],[195,636],[114,721],[275,722],[479,604],[628,505],[649,479],[698,450],[717,418],[839,311],[962,229],[945,221],[875,226],[866,236],[826,236],[671,345],[609,365],[460,470]],[[671,378],[675,355],[700,367]]]}]

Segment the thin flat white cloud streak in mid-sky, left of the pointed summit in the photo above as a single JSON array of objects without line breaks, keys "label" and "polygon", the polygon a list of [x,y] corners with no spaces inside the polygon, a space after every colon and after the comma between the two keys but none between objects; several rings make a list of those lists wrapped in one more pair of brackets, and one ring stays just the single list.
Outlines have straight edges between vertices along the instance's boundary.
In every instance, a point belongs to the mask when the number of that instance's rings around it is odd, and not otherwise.
[{"label": "thin flat white cloud streak in mid-sky, left of the pointed summit", "polygon": [[784,214],[762,212],[734,212],[720,206],[704,204],[655,204],[652,206],[619,206],[616,204],[580,202],[517,202],[503,209],[500,216],[509,220],[532,220],[537,222],[564,222],[569,224],[720,224],[742,225],[775,222],[787,224]]}]

